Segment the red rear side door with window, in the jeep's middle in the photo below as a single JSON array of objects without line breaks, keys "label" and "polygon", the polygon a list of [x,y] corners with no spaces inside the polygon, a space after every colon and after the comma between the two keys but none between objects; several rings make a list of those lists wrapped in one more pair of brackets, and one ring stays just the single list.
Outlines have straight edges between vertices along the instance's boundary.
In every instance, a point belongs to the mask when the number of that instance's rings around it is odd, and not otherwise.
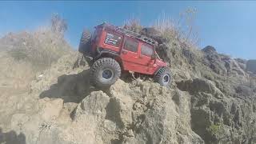
[{"label": "red rear side door with window, in the jeep's middle", "polygon": [[138,46],[139,42],[137,40],[125,37],[121,50],[122,66],[124,70],[139,72]]}]

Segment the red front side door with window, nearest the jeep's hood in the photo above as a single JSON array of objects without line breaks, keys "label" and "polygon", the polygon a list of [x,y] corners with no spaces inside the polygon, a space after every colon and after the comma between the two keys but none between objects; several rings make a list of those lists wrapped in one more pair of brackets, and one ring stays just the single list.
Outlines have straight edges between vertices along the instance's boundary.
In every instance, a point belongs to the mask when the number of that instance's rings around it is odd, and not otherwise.
[{"label": "red front side door with window, nearest the jeep's hood", "polygon": [[142,67],[142,73],[144,74],[154,74],[154,71],[157,69],[157,65],[155,64],[155,60],[152,58],[154,55],[154,47],[150,46],[146,43],[142,43],[139,49],[140,59],[138,62]]}]

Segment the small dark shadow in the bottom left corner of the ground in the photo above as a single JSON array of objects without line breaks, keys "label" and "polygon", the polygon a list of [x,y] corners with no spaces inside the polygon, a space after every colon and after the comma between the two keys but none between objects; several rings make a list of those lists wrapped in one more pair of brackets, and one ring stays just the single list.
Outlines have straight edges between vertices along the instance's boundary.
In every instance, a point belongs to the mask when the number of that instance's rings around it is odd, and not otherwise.
[{"label": "small dark shadow in the bottom left corner of the ground", "polygon": [[5,144],[26,144],[26,136],[22,133],[16,134],[14,130],[2,133],[0,128],[0,143]]}]

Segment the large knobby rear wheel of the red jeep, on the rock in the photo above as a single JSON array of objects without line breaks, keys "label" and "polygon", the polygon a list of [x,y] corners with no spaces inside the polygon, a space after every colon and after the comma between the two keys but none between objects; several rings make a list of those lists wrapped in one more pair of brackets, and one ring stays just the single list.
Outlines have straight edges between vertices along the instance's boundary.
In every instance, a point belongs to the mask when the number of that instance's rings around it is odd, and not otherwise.
[{"label": "large knobby rear wheel of the red jeep, on the rock", "polygon": [[[110,78],[106,72],[111,74]],[[100,58],[90,68],[92,86],[106,88],[114,84],[121,75],[121,67],[113,58]]]}]

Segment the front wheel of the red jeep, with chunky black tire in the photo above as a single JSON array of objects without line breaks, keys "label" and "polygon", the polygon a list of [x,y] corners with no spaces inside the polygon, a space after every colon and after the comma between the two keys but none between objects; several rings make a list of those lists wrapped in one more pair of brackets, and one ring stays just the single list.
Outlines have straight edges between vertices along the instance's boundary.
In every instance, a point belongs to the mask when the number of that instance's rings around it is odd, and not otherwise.
[{"label": "front wheel of the red jeep, with chunky black tire", "polygon": [[167,67],[161,67],[154,75],[154,81],[158,82],[161,86],[170,86],[172,82],[170,70]]}]

